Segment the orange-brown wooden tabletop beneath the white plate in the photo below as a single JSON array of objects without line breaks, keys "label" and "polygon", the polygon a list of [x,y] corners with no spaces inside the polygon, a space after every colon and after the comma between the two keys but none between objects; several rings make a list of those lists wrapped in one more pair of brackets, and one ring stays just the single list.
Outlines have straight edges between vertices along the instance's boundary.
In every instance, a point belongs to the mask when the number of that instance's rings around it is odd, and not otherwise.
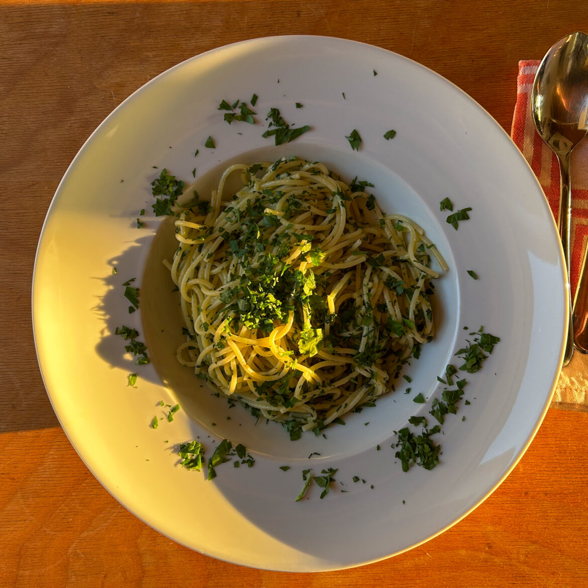
[{"label": "orange-brown wooden tabletop beneath the white plate", "polygon": [[[583,0],[4,1],[0,5],[0,585],[588,586],[588,414],[550,409],[519,465],[465,520],[384,562],[264,572],[191,552],[127,512],[49,404],[30,292],[45,213],[99,122],[192,55],[285,33],[340,36],[429,66],[507,131],[517,61],[587,26]],[[549,26],[547,26],[549,24]]]}]

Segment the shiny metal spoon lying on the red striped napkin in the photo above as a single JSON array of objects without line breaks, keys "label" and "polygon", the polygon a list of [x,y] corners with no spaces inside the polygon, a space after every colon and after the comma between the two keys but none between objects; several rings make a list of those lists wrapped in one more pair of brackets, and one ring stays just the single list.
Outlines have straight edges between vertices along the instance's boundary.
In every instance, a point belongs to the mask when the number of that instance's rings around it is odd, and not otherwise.
[{"label": "shiny metal spoon lying on the red striped napkin", "polygon": [[[559,161],[561,173],[560,209],[557,220],[567,268],[569,297],[569,323],[566,352],[563,365],[572,358],[574,333],[572,325],[572,300],[570,292],[570,216],[572,191],[570,188],[570,153],[588,131],[588,35],[576,32],[557,41],[544,56],[537,69],[532,91],[533,122],[543,141],[553,149]],[[582,272],[584,273],[584,272]],[[588,280],[586,300],[583,303],[583,324],[586,343],[582,352],[588,352]],[[580,311],[580,279],[576,304]],[[582,320],[574,321],[580,325]],[[577,343],[576,343],[577,346]]]}]

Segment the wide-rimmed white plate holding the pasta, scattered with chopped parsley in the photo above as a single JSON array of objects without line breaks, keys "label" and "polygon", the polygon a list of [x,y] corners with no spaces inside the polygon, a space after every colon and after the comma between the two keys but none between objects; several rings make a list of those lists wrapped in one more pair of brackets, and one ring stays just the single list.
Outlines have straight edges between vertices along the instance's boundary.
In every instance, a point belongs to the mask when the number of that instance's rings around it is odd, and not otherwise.
[{"label": "wide-rimmed white plate holding the pasta, scattered with chopped parsley", "polygon": [[[223,122],[222,99],[249,102],[253,93],[259,95],[258,124]],[[312,130],[275,148],[262,138],[272,106],[286,121]],[[354,128],[363,139],[359,152],[345,139]],[[397,135],[386,141],[389,129]],[[209,135],[215,149],[204,147]],[[318,159],[348,179],[369,179],[382,207],[421,223],[450,266],[437,286],[437,338],[406,369],[412,392],[403,393],[400,379],[396,393],[326,430],[328,439],[310,433],[290,442],[278,425],[255,426],[244,410],[229,409],[176,365],[177,299],[158,258],[165,238],[155,240],[148,256],[161,223],[150,214],[149,183],[161,168],[186,181],[196,168],[206,183],[211,170],[229,161],[282,154]],[[457,208],[472,207],[457,231],[439,211],[446,197]],[[142,208],[148,215],[138,230]],[[121,286],[129,278],[142,289],[141,312],[132,315]],[[512,470],[547,410],[562,362],[563,281],[553,218],[532,171],[465,93],[373,46],[313,36],[255,39],[199,55],[153,79],[85,143],[59,185],[39,242],[35,340],[69,439],[136,516],[230,562],[332,570],[430,539],[479,505]],[[146,339],[151,365],[136,367],[123,356],[125,342],[113,335],[123,324]],[[436,437],[439,466],[403,473],[390,447],[393,431],[413,414],[435,424],[428,410],[443,388],[436,376],[446,363],[459,365],[453,353],[467,338],[463,327],[480,325],[501,340],[482,370],[466,375],[471,404],[449,415]],[[135,371],[136,389],[126,385]],[[412,402],[417,392],[427,397],[425,405]],[[163,419],[153,430],[152,417],[166,414],[156,407],[162,399],[178,399],[183,409],[174,422]],[[182,469],[176,444],[196,436],[208,455],[224,437],[245,444],[255,466],[219,466],[212,482]],[[309,459],[313,452],[320,456]],[[282,465],[290,469],[283,472]],[[294,502],[307,467],[316,474],[338,468],[337,483],[323,500],[315,486],[308,500]],[[366,483],[353,483],[353,476]]]}]

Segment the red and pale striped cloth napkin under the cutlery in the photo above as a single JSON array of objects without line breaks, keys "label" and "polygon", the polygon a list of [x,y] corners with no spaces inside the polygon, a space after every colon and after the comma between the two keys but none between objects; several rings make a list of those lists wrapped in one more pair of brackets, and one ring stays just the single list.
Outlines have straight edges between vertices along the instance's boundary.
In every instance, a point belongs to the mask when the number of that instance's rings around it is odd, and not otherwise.
[{"label": "red and pale striped cloth napkin under the cutlery", "polygon": [[[519,61],[515,115],[510,135],[539,179],[554,217],[559,214],[559,164],[553,151],[535,130],[531,112],[531,91],[539,61]],[[572,226],[570,253],[572,300],[580,275],[584,249],[588,241],[588,139],[572,152],[570,185],[572,186]],[[588,354],[574,352],[557,382],[552,406],[588,412]]]}]

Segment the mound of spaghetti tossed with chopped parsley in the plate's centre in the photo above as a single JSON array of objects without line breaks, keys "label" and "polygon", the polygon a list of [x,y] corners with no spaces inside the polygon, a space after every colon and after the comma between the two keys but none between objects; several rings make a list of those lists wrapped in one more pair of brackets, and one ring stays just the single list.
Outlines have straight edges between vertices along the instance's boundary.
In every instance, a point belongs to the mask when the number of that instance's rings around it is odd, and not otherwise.
[{"label": "mound of spaghetti tossed with chopped parsley in the plate's centre", "polygon": [[194,191],[179,205],[191,186],[172,207],[179,247],[165,263],[188,333],[179,362],[292,439],[393,389],[434,334],[429,253],[447,266],[368,186],[280,159],[232,165],[210,201]]}]

